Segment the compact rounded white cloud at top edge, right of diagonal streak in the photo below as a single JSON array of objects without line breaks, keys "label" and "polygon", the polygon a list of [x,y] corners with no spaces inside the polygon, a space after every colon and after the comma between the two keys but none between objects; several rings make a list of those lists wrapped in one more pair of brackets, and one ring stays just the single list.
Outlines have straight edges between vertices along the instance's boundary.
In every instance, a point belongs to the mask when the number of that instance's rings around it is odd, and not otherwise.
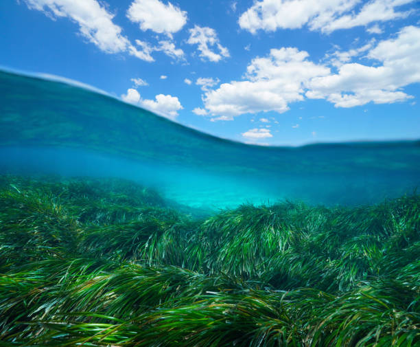
[{"label": "compact rounded white cloud at top edge, right of diagonal streak", "polygon": [[134,23],[140,23],[143,31],[152,30],[159,34],[178,32],[187,23],[187,12],[168,2],[159,0],[135,0],[127,11],[127,17]]}]

